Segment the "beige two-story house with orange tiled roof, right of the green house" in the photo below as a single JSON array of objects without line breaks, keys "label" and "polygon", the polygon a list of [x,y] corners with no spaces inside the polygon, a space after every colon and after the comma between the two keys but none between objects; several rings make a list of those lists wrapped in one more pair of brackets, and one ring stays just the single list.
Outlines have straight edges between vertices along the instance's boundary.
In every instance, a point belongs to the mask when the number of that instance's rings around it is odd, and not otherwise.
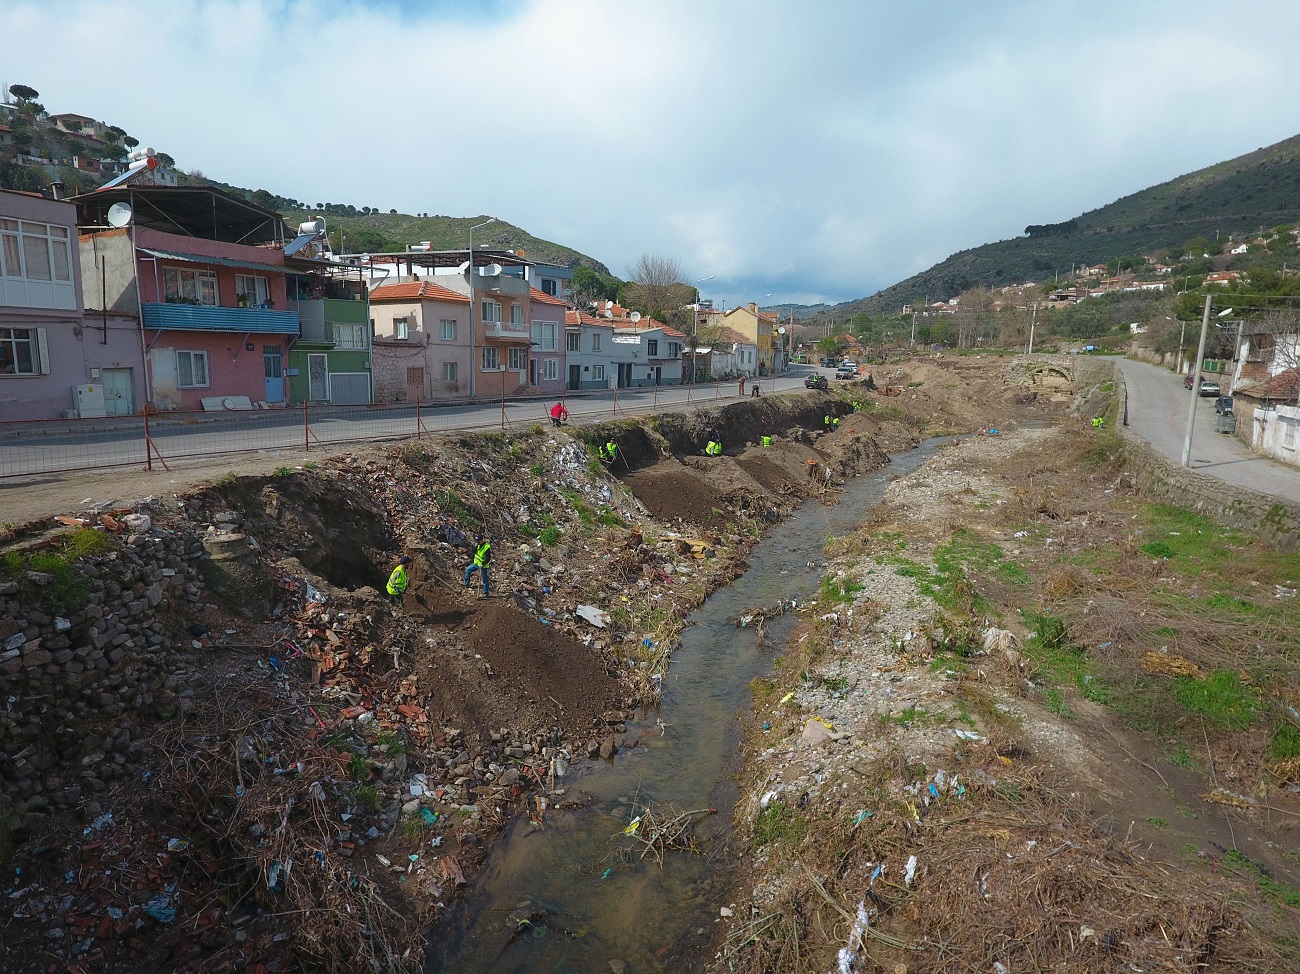
[{"label": "beige two-story house with orange tiled roof, right of the green house", "polygon": [[376,402],[469,395],[469,298],[429,278],[370,291]]}]

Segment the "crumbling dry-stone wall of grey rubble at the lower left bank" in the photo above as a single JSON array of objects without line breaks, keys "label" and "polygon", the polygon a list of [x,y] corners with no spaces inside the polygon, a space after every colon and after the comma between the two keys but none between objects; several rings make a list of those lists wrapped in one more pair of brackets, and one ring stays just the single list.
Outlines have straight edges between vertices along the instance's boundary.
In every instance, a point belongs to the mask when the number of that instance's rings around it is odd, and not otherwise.
[{"label": "crumbling dry-stone wall of grey rubble at the lower left bank", "polygon": [[99,814],[108,782],[148,770],[143,723],[190,704],[190,637],[165,620],[200,602],[203,545],[156,528],[113,541],[73,564],[88,597],[65,615],[49,609],[49,575],[0,583],[0,828]]}]

